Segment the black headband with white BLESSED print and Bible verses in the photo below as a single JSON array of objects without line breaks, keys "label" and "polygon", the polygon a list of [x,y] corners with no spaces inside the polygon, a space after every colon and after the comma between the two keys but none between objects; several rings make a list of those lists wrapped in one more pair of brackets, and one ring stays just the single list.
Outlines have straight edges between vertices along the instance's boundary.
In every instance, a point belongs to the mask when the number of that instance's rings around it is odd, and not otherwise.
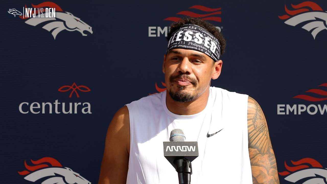
[{"label": "black headband with white BLESSED print and Bible verses", "polygon": [[173,32],[168,42],[169,50],[183,48],[207,54],[215,62],[220,58],[220,44],[210,32],[194,24],[186,24]]}]

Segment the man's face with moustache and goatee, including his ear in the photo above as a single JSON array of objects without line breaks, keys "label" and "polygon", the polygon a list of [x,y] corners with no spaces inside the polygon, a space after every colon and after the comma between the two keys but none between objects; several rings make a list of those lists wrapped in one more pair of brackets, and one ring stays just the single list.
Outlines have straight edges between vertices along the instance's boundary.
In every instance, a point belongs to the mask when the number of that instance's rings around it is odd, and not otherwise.
[{"label": "man's face with moustache and goatee, including his ear", "polygon": [[167,92],[174,101],[194,101],[209,89],[211,79],[219,77],[221,66],[221,60],[214,63],[202,52],[172,49],[163,60]]}]

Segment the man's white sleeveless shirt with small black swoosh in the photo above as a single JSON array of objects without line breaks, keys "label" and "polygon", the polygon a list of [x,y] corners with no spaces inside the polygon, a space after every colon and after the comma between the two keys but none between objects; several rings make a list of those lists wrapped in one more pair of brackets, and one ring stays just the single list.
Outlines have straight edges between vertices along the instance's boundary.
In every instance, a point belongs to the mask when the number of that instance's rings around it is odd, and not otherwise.
[{"label": "man's white sleeveless shirt with small black swoosh", "polygon": [[[179,128],[185,141],[198,141],[192,184],[252,184],[248,150],[248,96],[210,87],[207,106],[181,116],[166,106],[166,91],[126,105],[130,121],[127,184],[178,184],[175,168],[163,156],[163,142]],[[207,137],[209,134],[215,135]]]}]

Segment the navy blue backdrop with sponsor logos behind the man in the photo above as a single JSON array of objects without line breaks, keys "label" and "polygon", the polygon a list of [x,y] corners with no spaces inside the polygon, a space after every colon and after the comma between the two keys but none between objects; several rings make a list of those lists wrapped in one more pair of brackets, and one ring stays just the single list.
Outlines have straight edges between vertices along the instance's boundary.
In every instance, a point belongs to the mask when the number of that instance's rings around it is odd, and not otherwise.
[{"label": "navy blue backdrop with sponsor logos behind the man", "polygon": [[[57,17],[22,19],[25,6],[56,7]],[[261,105],[280,182],[312,168],[327,173],[326,1],[14,0],[1,9],[3,183],[42,183],[53,168],[97,183],[114,113],[165,88],[165,34],[184,16],[221,29],[227,48],[212,86]]]}]

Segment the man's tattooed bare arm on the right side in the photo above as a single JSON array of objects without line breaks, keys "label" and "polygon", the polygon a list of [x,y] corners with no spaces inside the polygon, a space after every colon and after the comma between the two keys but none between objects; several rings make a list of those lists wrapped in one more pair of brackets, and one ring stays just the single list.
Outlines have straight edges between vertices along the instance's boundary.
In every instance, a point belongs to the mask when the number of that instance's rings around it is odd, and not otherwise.
[{"label": "man's tattooed bare arm on the right side", "polygon": [[248,99],[249,154],[253,184],[279,184],[267,121],[259,104]]}]

